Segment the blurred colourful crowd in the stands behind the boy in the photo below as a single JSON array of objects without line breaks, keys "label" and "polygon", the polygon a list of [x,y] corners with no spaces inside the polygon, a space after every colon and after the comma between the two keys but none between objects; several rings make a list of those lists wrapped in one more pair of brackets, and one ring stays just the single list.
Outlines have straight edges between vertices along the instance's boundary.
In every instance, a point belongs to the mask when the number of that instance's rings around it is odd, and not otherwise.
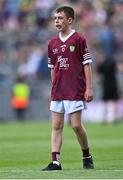
[{"label": "blurred colourful crowd in the stands behind the boy", "polygon": [[0,83],[10,75],[49,78],[47,41],[56,33],[52,13],[60,5],[75,9],[74,28],[86,37],[94,59],[95,87],[98,66],[105,58],[113,59],[122,97],[122,0],[0,0]]}]

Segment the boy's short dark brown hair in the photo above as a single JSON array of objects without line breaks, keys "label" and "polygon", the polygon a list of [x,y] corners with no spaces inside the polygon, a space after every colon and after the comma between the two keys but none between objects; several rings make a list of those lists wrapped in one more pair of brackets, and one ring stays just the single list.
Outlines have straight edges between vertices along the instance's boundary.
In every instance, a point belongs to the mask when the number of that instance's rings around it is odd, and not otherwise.
[{"label": "boy's short dark brown hair", "polygon": [[70,6],[61,6],[57,8],[55,12],[64,12],[68,18],[71,17],[74,20],[74,9]]}]

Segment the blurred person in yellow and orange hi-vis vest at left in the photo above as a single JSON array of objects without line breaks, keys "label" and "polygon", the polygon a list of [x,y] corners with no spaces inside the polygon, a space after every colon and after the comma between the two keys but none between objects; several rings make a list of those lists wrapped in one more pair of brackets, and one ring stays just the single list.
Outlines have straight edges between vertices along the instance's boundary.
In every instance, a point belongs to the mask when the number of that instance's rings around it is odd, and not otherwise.
[{"label": "blurred person in yellow and orange hi-vis vest at left", "polygon": [[25,113],[29,105],[30,88],[23,77],[17,77],[12,89],[12,108],[18,120],[25,119]]}]

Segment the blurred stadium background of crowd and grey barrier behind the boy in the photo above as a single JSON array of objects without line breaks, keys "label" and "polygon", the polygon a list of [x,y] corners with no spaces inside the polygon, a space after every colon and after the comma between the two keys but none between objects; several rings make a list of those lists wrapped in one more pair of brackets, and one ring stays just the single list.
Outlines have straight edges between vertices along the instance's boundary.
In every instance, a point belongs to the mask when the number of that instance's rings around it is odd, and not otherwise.
[{"label": "blurred stadium background of crowd and grey barrier behind the boy", "polygon": [[[94,101],[84,114],[85,121],[102,120],[102,88],[97,67],[107,55],[117,64],[118,118],[123,117],[122,0],[0,0],[0,121],[15,119],[11,94],[18,75],[23,76],[31,88],[26,118],[50,118],[47,42],[56,33],[52,11],[60,5],[71,5],[75,9],[74,27],[86,37],[94,59]],[[109,120],[112,116],[110,106]]]}]

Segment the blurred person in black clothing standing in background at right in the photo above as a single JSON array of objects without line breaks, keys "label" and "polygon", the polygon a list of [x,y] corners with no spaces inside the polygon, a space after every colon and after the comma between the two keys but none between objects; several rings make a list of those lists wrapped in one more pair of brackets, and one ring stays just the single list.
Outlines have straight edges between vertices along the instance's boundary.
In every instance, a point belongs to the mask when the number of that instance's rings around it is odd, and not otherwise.
[{"label": "blurred person in black clothing standing in background at right", "polygon": [[102,100],[104,101],[103,123],[107,123],[108,110],[112,107],[113,122],[118,119],[118,82],[117,64],[113,59],[106,57],[98,66],[102,81]]}]

